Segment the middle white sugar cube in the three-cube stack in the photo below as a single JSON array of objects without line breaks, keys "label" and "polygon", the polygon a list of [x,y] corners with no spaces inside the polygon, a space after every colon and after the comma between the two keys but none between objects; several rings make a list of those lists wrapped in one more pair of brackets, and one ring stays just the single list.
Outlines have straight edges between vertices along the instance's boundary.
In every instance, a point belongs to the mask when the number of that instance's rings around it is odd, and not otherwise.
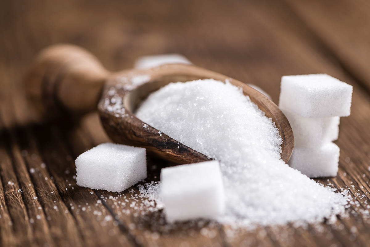
[{"label": "middle white sugar cube in the three-cube stack", "polygon": [[335,141],[339,132],[339,117],[304,118],[281,108],[292,127],[296,147],[312,147]]}]

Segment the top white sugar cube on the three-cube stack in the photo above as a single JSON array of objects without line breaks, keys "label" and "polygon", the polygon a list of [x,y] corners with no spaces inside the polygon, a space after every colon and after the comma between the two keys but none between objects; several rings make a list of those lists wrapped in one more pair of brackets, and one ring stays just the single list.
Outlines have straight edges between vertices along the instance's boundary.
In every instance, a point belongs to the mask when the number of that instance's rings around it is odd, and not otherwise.
[{"label": "top white sugar cube on the three-cube stack", "polygon": [[352,90],[327,74],[283,76],[279,107],[305,118],[349,116]]}]

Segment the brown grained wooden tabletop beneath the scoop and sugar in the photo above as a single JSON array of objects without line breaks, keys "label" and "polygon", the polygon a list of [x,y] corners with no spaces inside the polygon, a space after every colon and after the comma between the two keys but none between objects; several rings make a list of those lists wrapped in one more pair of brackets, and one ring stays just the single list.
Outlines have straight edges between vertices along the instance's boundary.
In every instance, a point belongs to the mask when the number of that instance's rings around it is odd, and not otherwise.
[{"label": "brown grained wooden tabletop beneath the scoop and sugar", "polygon": [[[369,246],[369,27],[367,0],[1,1],[1,246]],[[74,159],[108,141],[96,114],[73,125],[35,125],[24,97],[27,66],[56,43],[81,45],[112,71],[132,67],[142,55],[181,53],[259,85],[275,102],[282,75],[324,72],[353,85],[351,116],[341,119],[336,141],[338,176],[319,179],[349,188],[349,217],[232,236],[215,223],[167,229],[160,213],[130,208],[128,190],[125,206],[122,198],[97,204],[117,194],[78,187],[73,179]],[[151,160],[152,179],[163,165]]]}]

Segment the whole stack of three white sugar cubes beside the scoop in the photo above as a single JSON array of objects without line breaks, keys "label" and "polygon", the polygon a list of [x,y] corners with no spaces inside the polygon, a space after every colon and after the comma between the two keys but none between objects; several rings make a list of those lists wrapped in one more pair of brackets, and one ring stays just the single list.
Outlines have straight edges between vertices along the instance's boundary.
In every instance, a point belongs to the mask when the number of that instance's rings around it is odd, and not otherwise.
[{"label": "whole stack of three white sugar cubes beside the scoop", "polygon": [[352,86],[327,74],[283,76],[279,108],[292,126],[288,164],[309,177],[336,176],[339,120],[350,115]]}]

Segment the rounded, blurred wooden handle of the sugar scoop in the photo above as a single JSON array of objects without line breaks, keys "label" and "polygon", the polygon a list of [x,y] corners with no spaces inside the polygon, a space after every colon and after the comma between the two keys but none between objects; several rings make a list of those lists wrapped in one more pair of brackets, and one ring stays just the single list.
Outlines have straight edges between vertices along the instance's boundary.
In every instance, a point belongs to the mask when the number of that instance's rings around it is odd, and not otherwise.
[{"label": "rounded, blurred wooden handle of the sugar scoop", "polygon": [[28,71],[28,99],[42,118],[96,109],[108,72],[90,52],[59,44],[40,52]]}]

